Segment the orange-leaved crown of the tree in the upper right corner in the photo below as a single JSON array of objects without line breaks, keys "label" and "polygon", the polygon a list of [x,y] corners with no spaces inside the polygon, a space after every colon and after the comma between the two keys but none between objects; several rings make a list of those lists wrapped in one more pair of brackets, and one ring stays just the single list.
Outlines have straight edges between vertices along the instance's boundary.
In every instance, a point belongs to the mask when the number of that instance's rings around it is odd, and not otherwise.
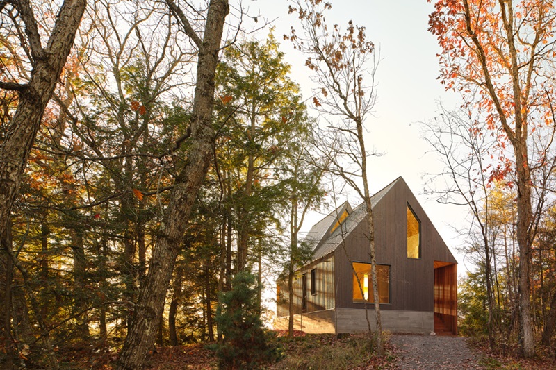
[{"label": "orange-leaved crown of the tree in the upper right corner", "polygon": [[553,125],[554,14],[547,0],[434,4],[429,31],[441,47],[439,80],[480,112],[501,146]]}]

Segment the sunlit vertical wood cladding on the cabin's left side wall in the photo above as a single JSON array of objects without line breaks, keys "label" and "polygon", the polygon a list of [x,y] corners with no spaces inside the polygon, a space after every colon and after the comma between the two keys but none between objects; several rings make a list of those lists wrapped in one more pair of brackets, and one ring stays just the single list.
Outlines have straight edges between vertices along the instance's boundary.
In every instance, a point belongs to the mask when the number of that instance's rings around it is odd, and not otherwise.
[{"label": "sunlit vertical wood cladding on the cabin's left side wall", "polygon": [[[315,294],[311,294],[311,270],[315,269]],[[293,280],[293,313],[302,313],[302,275],[306,274],[306,310],[314,312],[334,308],[334,255],[329,255],[322,260],[312,262],[296,271]],[[288,284],[285,281],[277,282],[280,298],[277,301],[277,317],[288,316]]]}]

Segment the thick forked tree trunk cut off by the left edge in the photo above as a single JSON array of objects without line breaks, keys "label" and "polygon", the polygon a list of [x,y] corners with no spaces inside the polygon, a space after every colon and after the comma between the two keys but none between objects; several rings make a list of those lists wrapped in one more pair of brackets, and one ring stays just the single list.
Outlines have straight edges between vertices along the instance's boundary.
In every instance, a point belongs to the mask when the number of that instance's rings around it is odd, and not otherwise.
[{"label": "thick forked tree trunk cut off by the left edge", "polygon": [[64,1],[47,47],[43,48],[31,4],[28,0],[16,2],[17,9],[26,23],[26,35],[30,38],[28,44],[31,46],[33,69],[31,79],[26,85],[0,85],[19,92],[17,110],[0,149],[0,232],[6,230],[44,108],[54,92],[72,49],[86,3],[86,0]]}]

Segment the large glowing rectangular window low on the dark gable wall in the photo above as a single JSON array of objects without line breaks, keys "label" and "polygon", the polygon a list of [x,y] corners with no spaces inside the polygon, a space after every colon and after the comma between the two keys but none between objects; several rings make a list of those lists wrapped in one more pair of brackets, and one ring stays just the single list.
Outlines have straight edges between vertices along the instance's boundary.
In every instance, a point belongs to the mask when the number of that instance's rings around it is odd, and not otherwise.
[{"label": "large glowing rectangular window low on the dark gable wall", "polygon": [[[374,303],[370,263],[353,262],[353,303]],[[361,287],[359,287],[361,285]],[[379,303],[390,303],[390,266],[377,264]],[[362,291],[362,292],[361,292]]]}]

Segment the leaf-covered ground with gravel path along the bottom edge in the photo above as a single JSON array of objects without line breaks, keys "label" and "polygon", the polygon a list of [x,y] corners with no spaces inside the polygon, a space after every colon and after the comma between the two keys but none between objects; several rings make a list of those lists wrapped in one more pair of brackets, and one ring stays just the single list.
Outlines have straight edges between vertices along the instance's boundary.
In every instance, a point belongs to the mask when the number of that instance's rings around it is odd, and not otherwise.
[{"label": "leaf-covered ground with gravel path along the bottom edge", "polygon": [[[277,344],[284,358],[267,369],[556,369],[555,355],[539,353],[529,360],[516,348],[489,351],[484,340],[430,335],[389,335],[386,355],[370,355],[365,335],[306,335],[289,338],[278,333]],[[111,369],[115,356],[91,361],[72,369]],[[73,362],[74,366],[77,365]],[[62,367],[64,368],[64,367]],[[207,344],[158,348],[149,359],[149,370],[218,369],[215,352]]]}]

